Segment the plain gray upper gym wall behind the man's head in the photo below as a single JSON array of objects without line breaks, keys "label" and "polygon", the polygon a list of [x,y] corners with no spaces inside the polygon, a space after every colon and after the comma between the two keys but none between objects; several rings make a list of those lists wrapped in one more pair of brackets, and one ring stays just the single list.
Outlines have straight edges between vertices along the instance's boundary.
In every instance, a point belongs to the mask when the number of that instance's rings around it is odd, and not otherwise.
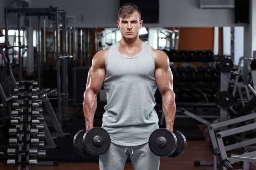
[{"label": "plain gray upper gym wall behind the man's head", "polygon": [[[159,23],[145,27],[234,26],[233,9],[200,9],[199,0],[159,0]],[[31,8],[56,6],[76,15],[77,27],[115,27],[119,0],[31,0]],[[1,11],[1,10],[0,10]],[[3,15],[2,15],[3,16]],[[36,20],[36,19],[35,19]],[[3,24],[3,17],[0,18]],[[35,25],[37,22],[34,22]],[[241,25],[241,24],[240,24]]]}]

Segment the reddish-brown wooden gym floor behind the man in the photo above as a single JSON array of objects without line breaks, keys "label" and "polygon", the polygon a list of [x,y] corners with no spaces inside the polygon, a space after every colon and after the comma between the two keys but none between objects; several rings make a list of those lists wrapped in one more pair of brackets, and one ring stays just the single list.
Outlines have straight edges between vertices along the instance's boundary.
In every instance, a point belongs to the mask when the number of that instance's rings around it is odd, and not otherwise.
[{"label": "reddish-brown wooden gym floor behind the man", "polygon": [[[204,131],[206,125],[198,125]],[[205,141],[187,141],[187,148],[185,153],[178,158],[161,157],[160,170],[201,170],[212,169],[212,166],[194,166],[194,161],[212,161],[212,151],[209,147],[209,134],[204,133]],[[241,168],[241,166],[234,166],[234,169]],[[255,169],[250,164],[251,169]],[[60,162],[59,166],[35,166],[31,167],[32,170],[99,170],[98,162]],[[17,167],[8,165],[5,166],[0,163],[0,170],[17,170]],[[125,164],[125,170],[134,170],[131,162]]]}]

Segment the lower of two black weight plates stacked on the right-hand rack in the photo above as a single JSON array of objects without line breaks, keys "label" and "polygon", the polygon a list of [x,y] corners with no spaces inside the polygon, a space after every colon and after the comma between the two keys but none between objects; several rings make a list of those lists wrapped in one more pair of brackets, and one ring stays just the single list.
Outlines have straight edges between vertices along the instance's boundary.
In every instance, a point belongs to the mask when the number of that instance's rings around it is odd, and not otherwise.
[{"label": "lower of two black weight plates stacked on the right-hand rack", "polygon": [[229,108],[234,103],[234,96],[228,91],[218,91],[214,95],[215,103],[222,108]]}]

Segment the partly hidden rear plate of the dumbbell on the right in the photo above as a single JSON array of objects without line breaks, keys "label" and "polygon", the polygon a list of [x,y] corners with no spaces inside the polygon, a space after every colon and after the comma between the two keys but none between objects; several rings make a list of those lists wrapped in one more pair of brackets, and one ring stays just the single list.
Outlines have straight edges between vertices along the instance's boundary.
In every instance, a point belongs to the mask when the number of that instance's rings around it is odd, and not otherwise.
[{"label": "partly hidden rear plate of the dumbbell on the right", "polygon": [[168,156],[168,157],[171,157],[171,158],[179,157],[186,150],[186,138],[185,138],[185,136],[180,131],[177,131],[177,130],[173,130],[173,133],[175,134],[175,136],[177,138],[177,147],[176,147],[174,153],[172,153],[170,156]]}]

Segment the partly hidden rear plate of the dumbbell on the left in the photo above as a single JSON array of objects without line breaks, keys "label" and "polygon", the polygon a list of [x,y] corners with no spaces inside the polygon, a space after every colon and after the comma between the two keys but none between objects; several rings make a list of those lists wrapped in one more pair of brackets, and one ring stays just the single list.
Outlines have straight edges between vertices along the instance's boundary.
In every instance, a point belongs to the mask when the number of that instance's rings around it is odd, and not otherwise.
[{"label": "partly hidden rear plate of the dumbbell on the left", "polygon": [[89,153],[84,150],[84,144],[83,144],[83,136],[85,133],[85,129],[79,130],[74,139],[73,139],[73,146],[77,153],[79,153],[81,156],[90,156]]}]

